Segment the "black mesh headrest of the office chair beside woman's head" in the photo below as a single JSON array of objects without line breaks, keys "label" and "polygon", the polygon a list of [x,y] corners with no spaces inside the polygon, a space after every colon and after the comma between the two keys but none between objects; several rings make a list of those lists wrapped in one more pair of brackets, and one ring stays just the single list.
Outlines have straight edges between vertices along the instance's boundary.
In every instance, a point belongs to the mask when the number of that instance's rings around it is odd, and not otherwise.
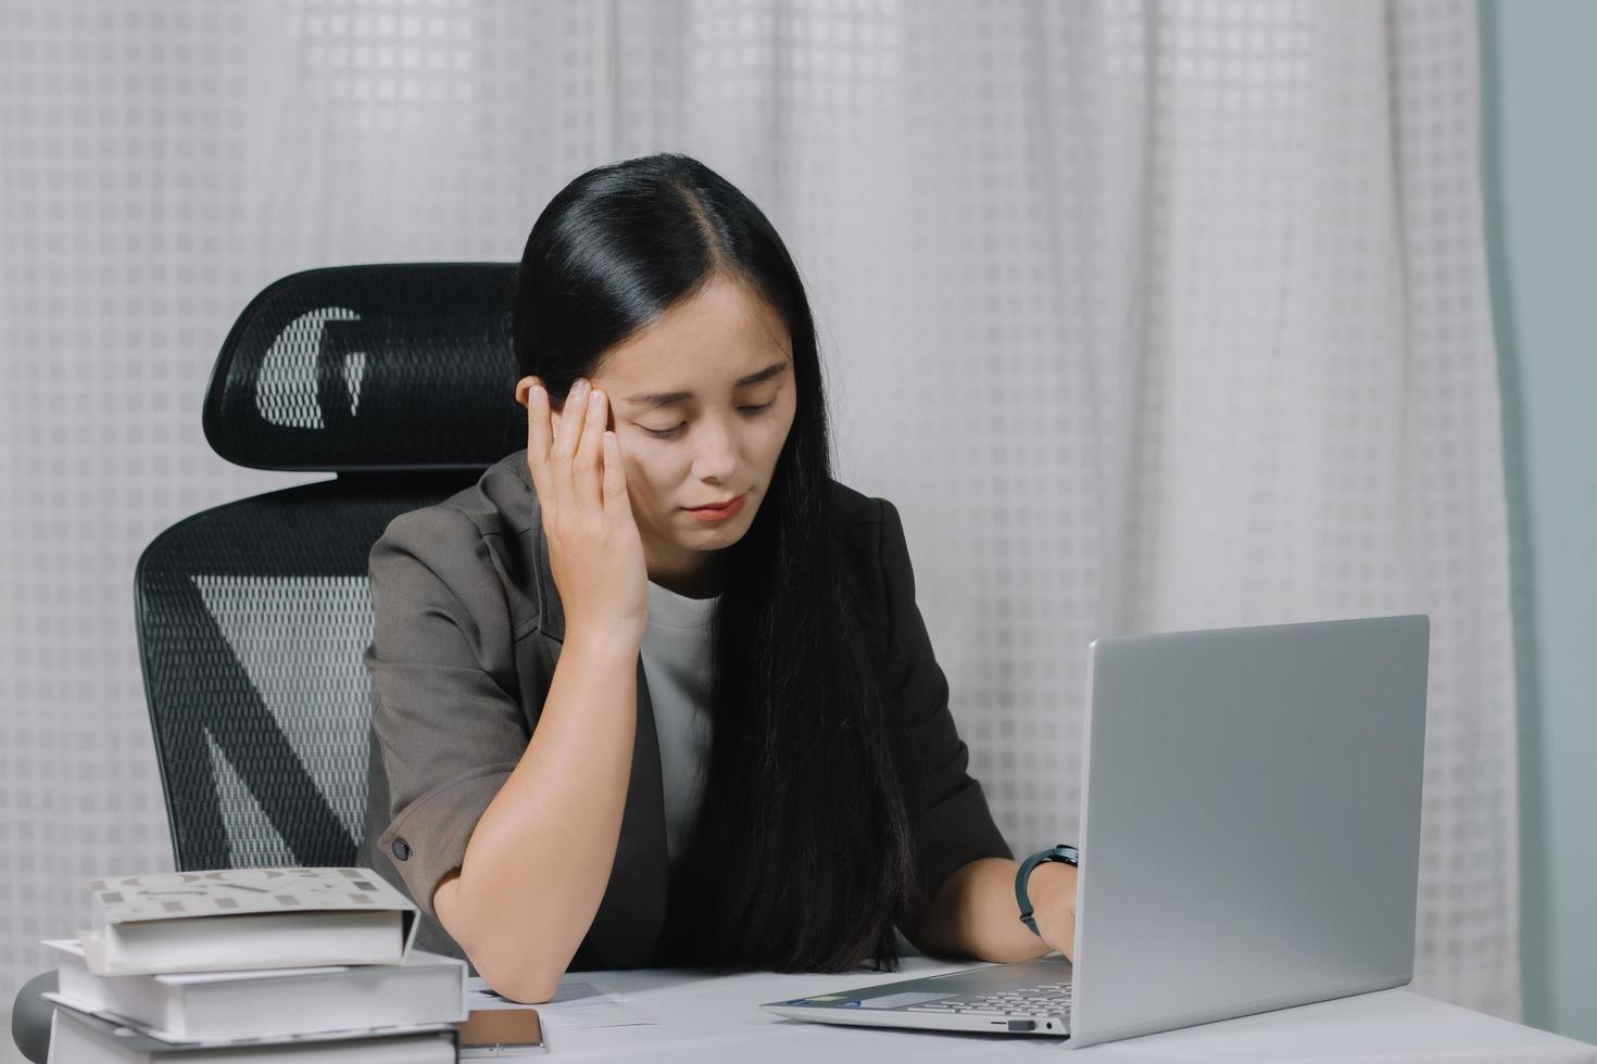
[{"label": "black mesh headrest of the office chair beside woman's head", "polygon": [[527,442],[516,404],[516,263],[305,270],[222,343],[204,435],[254,469],[487,467]]}]

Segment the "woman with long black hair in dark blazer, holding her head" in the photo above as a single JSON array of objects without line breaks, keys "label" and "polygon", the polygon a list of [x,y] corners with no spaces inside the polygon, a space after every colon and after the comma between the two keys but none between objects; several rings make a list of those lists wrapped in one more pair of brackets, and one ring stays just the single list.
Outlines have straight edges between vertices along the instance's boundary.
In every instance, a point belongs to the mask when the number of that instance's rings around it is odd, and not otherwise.
[{"label": "woman with long black hair in dark blazer, holding her head", "polygon": [[513,292],[527,450],[372,549],[363,861],[418,943],[567,970],[1068,952],[966,774],[898,510],[830,479],[781,238],[701,163],[592,169]]}]

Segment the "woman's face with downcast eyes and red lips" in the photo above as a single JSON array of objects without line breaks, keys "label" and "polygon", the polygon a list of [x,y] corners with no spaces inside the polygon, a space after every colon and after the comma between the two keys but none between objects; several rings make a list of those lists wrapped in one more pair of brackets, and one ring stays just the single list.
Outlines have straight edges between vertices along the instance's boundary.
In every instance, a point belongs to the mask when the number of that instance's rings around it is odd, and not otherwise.
[{"label": "woman's face with downcast eyes and red lips", "polygon": [[[709,593],[699,577],[711,552],[749,530],[794,423],[786,324],[751,289],[715,278],[612,348],[591,381],[610,402],[648,577]],[[730,517],[692,512],[735,496],[743,507]]]}]

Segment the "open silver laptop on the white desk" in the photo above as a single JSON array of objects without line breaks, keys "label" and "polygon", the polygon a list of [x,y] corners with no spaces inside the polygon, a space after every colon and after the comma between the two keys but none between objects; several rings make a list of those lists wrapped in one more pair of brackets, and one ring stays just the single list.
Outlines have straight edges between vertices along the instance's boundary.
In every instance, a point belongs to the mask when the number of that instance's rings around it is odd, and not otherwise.
[{"label": "open silver laptop on the white desk", "polygon": [[1096,640],[1075,965],[762,1008],[1084,1046],[1404,986],[1429,636],[1405,614]]}]

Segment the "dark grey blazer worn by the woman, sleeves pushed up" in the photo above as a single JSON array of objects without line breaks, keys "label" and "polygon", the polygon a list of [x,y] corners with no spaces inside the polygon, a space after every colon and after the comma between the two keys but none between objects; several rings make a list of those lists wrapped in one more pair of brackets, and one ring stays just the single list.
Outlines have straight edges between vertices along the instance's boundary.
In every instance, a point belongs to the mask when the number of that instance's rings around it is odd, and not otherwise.
[{"label": "dark grey blazer worn by the woman, sleeves pushed up", "polygon": [[[834,482],[854,571],[870,603],[890,705],[925,772],[912,807],[926,897],[961,865],[1012,857],[993,825],[949,713],[899,514]],[[470,957],[433,911],[438,881],[462,865],[478,818],[509,778],[538,726],[565,638],[527,451],[476,485],[401,514],[372,546],[372,743],[359,863],[422,909],[417,946]],[[669,863],[660,747],[642,657],[637,735],[610,884],[572,970],[658,964]]]}]

